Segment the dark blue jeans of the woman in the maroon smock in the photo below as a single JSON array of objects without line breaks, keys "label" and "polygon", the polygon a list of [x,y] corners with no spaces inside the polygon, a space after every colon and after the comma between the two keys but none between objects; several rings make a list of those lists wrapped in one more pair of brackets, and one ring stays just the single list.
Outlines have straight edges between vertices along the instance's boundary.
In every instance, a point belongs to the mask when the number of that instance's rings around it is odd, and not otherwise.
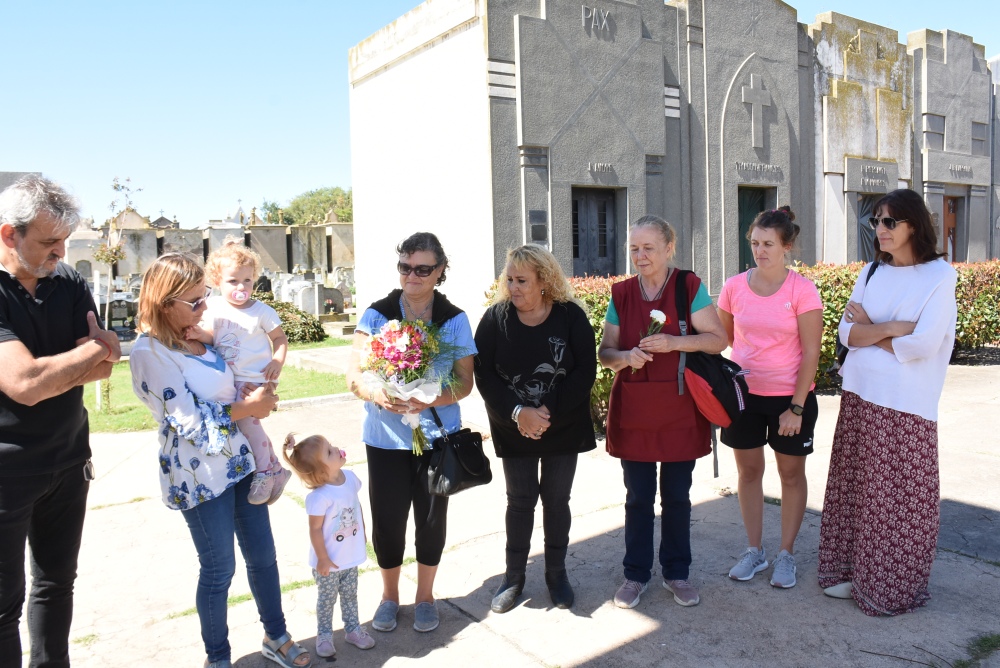
[{"label": "dark blue jeans of the woman in the maroon smock", "polygon": [[[649,582],[653,569],[656,463],[622,460],[625,478],[625,577]],[[694,461],[660,467],[660,567],[665,580],[686,580],[691,567],[691,474]]]}]

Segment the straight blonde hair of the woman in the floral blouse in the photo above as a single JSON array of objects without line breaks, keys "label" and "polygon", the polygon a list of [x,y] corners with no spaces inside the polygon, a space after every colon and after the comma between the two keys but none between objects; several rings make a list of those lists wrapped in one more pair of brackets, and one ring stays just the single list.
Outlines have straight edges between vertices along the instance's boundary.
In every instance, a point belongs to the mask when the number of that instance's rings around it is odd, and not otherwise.
[{"label": "straight blonde hair of the woman in the floral blouse", "polygon": [[156,258],[142,276],[136,316],[139,331],[168,348],[180,348],[184,334],[174,330],[164,309],[204,280],[205,270],[193,255],[164,253]]}]

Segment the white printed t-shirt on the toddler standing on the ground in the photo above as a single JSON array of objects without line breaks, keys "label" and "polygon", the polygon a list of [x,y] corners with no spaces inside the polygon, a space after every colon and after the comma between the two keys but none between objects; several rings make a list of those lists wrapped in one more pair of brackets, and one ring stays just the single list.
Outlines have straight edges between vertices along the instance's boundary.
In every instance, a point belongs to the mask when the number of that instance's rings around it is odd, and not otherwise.
[{"label": "white printed t-shirt on the toddler standing on the ground", "polygon": [[[306,512],[323,517],[323,537],[330,561],[337,570],[354,568],[365,563],[365,521],[361,514],[361,480],[353,471],[344,470],[342,485],[323,485],[306,495]],[[309,565],[316,568],[319,558],[309,546]]]}]

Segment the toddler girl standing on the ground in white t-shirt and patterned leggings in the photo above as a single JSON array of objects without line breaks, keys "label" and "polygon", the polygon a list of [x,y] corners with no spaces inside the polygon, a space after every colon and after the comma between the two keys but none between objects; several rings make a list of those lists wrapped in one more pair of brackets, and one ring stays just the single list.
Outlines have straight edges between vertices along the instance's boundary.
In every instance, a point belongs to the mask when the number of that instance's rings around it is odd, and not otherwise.
[{"label": "toddler girl standing on the ground in white t-shirt and patterned leggings", "polygon": [[306,496],[309,513],[309,565],[319,586],[316,600],[316,654],[336,654],[333,646],[333,606],[340,594],[344,639],[371,649],[375,639],[358,623],[358,566],[365,563],[365,522],[358,491],[361,481],[345,471],[347,453],[322,436],[298,443],[285,437],[285,459],[312,491]]}]

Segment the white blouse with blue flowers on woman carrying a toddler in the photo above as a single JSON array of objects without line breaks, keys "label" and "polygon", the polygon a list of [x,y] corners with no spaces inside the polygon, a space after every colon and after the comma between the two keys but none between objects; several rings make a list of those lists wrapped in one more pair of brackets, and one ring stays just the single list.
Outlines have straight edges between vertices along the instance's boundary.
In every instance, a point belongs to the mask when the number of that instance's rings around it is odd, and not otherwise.
[{"label": "white blouse with blue flowers on woman carrying a toddler", "polygon": [[233,372],[207,348],[191,355],[142,336],[129,356],[132,391],[159,423],[163,502],[176,510],[214,499],[256,468],[230,415]]}]

